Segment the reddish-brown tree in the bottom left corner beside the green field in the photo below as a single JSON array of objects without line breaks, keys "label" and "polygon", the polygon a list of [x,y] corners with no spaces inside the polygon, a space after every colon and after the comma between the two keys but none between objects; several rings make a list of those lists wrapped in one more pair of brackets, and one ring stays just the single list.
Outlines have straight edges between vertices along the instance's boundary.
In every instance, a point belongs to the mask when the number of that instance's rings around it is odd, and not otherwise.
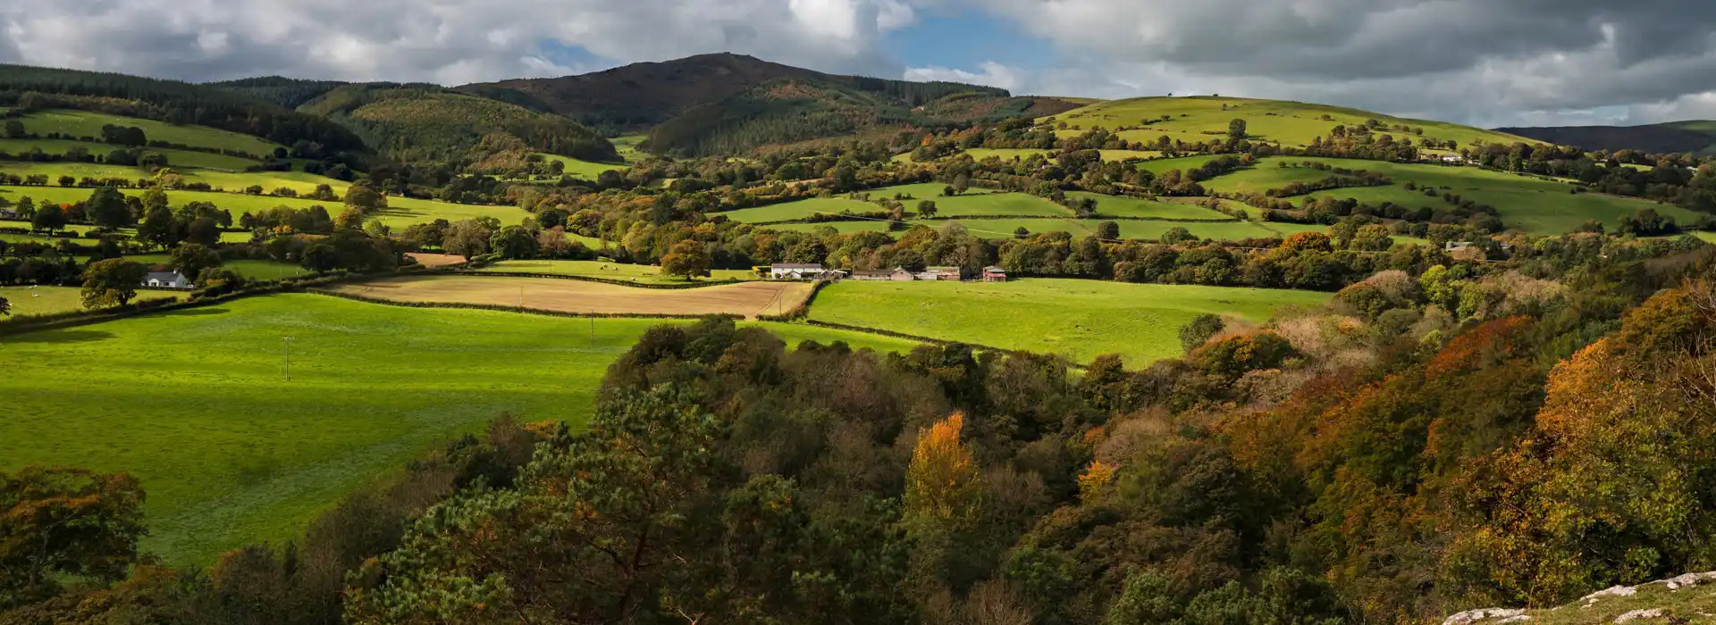
[{"label": "reddish-brown tree in the bottom left corner beside the green field", "polygon": [[62,579],[124,579],[148,533],[142,502],[142,485],[124,473],[0,473],[0,610],[45,598]]}]

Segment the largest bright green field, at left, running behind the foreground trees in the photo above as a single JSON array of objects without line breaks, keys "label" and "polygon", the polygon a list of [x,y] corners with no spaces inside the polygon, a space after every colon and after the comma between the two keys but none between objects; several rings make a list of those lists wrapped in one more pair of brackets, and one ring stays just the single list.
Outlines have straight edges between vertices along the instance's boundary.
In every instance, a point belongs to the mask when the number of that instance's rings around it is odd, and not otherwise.
[{"label": "largest bright green field, at left, running behind the foreground trees", "polygon": [[[7,366],[31,372],[0,380],[0,469],[129,471],[149,493],[142,546],[209,563],[292,538],[343,493],[499,413],[585,421],[607,365],[657,324],[275,295],[0,337]],[[765,327],[795,344],[911,346]]]}]

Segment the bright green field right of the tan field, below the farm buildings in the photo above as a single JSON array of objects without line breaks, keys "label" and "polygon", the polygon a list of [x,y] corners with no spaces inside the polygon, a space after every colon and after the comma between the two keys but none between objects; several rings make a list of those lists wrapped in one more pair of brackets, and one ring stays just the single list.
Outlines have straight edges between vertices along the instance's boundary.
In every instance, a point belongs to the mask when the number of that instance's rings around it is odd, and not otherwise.
[{"label": "bright green field right of the tan field, below the farm buildings", "polygon": [[1179,329],[1194,315],[1265,322],[1287,305],[1328,293],[1076,279],[1012,283],[839,283],[810,308],[820,322],[1066,354],[1088,363],[1119,353],[1129,368],[1181,354]]}]

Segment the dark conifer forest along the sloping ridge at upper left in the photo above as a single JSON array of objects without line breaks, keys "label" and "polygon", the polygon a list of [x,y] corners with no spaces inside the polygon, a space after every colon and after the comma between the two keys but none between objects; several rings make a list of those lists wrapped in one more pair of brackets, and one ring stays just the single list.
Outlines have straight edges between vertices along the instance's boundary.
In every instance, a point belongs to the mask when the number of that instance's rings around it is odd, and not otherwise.
[{"label": "dark conifer forest along the sloping ridge at upper left", "polygon": [[124,74],[0,65],[0,106],[19,111],[79,108],[206,125],[285,146],[305,140],[323,146],[329,154],[366,151],[355,134],[314,115],[293,113],[216,87]]}]

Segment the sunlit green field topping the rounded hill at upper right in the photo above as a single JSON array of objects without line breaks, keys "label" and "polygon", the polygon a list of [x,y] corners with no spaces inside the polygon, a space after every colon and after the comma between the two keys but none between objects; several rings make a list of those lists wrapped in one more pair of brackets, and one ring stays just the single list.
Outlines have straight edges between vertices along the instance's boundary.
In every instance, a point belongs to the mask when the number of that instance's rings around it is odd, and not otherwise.
[{"label": "sunlit green field topping the rounded hill at upper right", "polygon": [[[1057,130],[1055,135],[1076,137],[1095,127],[1109,130],[1119,127],[1138,127],[1146,118],[1160,118],[1163,115],[1172,116],[1172,120],[1157,122],[1139,130],[1124,130],[1119,132],[1119,135],[1126,140],[1143,142],[1155,142],[1158,137],[1167,135],[1172,140],[1201,144],[1210,139],[1225,140],[1227,123],[1239,118],[1246,120],[1246,134],[1251,140],[1280,142],[1282,146],[1302,147],[1309,144],[1313,137],[1328,137],[1335,125],[1352,127],[1364,125],[1366,120],[1378,120],[1383,123],[1383,128],[1373,130],[1373,134],[1392,134],[1397,139],[1412,139],[1414,144],[1421,137],[1457,140],[1460,146],[1471,146],[1479,139],[1489,144],[1538,144],[1531,139],[1457,123],[1395,118],[1381,113],[1340,106],[1215,96],[1134,98],[1097,103],[1055,115],[1055,122],[1067,123],[1067,128]],[[1325,115],[1328,120],[1323,118]],[[1388,128],[1400,123],[1423,128],[1424,134],[1416,135]]]}]

